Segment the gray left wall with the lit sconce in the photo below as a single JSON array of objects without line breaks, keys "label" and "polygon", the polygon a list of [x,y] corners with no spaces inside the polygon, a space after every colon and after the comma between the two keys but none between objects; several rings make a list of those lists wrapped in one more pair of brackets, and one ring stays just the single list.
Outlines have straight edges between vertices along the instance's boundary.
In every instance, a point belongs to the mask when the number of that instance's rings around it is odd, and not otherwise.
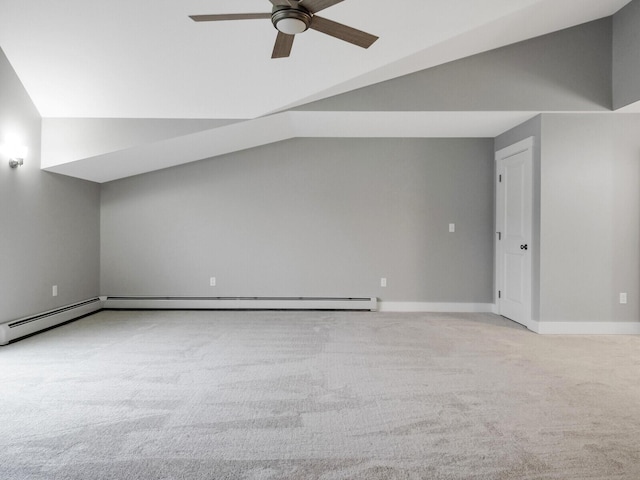
[{"label": "gray left wall with the lit sconce", "polygon": [[40,130],[0,50],[0,142],[15,132],[29,149],[16,170],[0,157],[0,322],[98,294],[99,186],[40,171]]}]

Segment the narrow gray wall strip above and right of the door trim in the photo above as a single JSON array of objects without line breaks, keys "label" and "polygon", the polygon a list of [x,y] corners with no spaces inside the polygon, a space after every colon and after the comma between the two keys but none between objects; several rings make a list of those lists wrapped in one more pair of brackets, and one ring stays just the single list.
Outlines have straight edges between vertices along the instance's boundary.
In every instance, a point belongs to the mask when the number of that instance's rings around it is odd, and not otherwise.
[{"label": "narrow gray wall strip above and right of the door trim", "polygon": [[532,118],[495,139],[495,151],[533,137],[533,215],[531,228],[531,319],[540,318],[540,152],[542,117]]}]

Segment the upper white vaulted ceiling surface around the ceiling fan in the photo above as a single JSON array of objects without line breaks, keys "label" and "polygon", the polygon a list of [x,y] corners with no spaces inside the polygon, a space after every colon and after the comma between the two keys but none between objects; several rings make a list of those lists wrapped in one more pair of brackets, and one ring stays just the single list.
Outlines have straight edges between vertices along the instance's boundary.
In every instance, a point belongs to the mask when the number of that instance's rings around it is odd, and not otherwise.
[{"label": "upper white vaulted ceiling surface around the ceiling fan", "polygon": [[321,15],[380,36],[371,48],[310,30],[290,58],[271,60],[269,20],[188,18],[268,12],[268,0],[0,0],[0,46],[43,117],[247,119],[610,15],[628,1],[345,0]]}]

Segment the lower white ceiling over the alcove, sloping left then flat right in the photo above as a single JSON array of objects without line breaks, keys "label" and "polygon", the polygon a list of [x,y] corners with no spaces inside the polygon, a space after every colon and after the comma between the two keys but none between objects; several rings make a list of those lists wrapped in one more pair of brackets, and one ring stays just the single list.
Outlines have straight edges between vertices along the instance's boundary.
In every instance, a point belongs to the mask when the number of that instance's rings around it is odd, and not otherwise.
[{"label": "lower white ceiling over the alcove, sloping left then flat right", "polygon": [[[493,138],[534,115],[531,112],[291,111],[81,158],[74,157],[75,148],[58,142],[58,148],[43,152],[42,168],[104,183],[296,137]],[[44,144],[49,142],[47,130],[43,135]],[[82,133],[88,133],[89,139],[96,134],[95,131]]]}]

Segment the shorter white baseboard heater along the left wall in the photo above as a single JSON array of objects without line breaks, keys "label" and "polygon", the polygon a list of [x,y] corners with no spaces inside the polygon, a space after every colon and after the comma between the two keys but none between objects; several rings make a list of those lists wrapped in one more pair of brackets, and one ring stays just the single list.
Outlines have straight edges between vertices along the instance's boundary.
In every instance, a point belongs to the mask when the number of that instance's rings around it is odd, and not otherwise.
[{"label": "shorter white baseboard heater along the left wall", "polygon": [[83,302],[49,310],[30,317],[0,324],[0,345],[6,345],[18,338],[32,335],[41,330],[84,317],[102,309],[102,301],[96,297]]}]

